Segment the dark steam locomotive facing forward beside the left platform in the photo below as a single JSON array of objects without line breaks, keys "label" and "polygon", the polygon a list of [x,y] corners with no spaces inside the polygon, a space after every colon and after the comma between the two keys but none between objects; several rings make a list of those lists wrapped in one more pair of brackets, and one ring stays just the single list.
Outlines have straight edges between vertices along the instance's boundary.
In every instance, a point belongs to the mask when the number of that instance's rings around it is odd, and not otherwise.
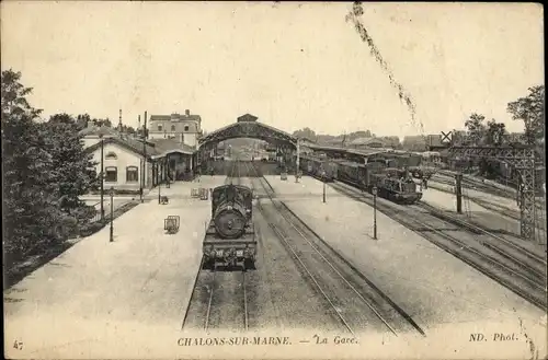
[{"label": "dark steam locomotive facing forward beside the left platform", "polygon": [[254,269],[256,240],[253,191],[242,185],[221,185],[212,191],[212,219],[203,242],[203,268],[217,265]]}]

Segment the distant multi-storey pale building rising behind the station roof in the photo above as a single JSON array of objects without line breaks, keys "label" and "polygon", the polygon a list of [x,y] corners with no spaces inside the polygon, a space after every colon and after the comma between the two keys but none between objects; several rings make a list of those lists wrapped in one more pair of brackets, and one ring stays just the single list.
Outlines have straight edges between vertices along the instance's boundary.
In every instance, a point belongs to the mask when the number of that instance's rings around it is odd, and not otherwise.
[{"label": "distant multi-storey pale building rising behind the station roof", "polygon": [[203,133],[202,117],[192,115],[189,109],[184,115],[150,115],[147,127],[150,139],[173,139],[194,149]]}]

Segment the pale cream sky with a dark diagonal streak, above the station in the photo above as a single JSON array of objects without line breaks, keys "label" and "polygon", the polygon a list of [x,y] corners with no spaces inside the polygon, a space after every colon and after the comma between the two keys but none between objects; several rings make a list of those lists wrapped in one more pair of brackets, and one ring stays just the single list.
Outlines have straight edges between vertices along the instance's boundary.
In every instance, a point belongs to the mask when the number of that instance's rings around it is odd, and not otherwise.
[{"label": "pale cream sky with a dark diagonal streak, above the station", "polygon": [[[364,3],[361,22],[413,100],[398,91],[344,2],[2,1],[2,70],[22,72],[44,116],[246,113],[287,132],[438,133],[472,112],[523,125],[506,104],[544,84],[543,8]],[[423,130],[419,124],[422,124]]]}]

